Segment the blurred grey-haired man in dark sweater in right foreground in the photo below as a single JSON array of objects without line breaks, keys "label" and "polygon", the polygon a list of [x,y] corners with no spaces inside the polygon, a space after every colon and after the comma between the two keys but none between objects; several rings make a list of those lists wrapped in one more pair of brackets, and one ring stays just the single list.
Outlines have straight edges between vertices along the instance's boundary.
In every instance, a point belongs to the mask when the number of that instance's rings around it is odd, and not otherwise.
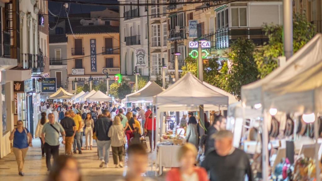
[{"label": "blurred grey-haired man in dark sweater in right foreground", "polygon": [[212,136],[216,149],[208,153],[201,163],[210,174],[211,181],[253,181],[251,164],[247,154],[232,146],[233,134],[220,130]]}]

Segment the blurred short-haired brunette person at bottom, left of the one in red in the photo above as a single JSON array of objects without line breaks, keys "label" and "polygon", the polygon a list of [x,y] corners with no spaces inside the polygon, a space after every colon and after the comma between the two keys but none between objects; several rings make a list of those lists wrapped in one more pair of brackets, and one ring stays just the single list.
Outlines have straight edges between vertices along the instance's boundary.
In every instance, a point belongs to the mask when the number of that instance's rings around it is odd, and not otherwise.
[{"label": "blurred short-haired brunette person at bottom, left of the one in red", "polygon": [[143,177],[147,171],[148,155],[141,144],[132,144],[128,147],[128,170],[124,179],[118,181],[153,181]]}]

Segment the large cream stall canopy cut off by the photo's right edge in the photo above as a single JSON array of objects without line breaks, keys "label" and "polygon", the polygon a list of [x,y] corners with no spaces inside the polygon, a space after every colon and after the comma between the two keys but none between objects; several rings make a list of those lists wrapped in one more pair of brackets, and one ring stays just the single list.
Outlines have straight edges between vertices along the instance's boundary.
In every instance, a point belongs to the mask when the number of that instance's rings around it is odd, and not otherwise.
[{"label": "large cream stall canopy cut off by the photo's right edge", "polygon": [[[278,110],[313,112],[322,110],[322,35],[296,52],[285,65],[264,79],[242,86],[242,102]],[[313,104],[315,102],[315,105]]]}]

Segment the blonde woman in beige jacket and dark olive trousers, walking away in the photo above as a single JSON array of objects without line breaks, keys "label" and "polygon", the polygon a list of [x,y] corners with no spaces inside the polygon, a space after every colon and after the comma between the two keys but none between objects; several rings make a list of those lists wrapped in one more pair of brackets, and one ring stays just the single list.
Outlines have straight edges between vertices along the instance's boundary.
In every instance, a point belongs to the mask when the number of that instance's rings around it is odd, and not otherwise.
[{"label": "blonde woman in beige jacket and dark olive trousers, walking away", "polygon": [[123,145],[126,143],[123,125],[119,116],[114,117],[113,125],[109,128],[108,136],[111,138],[112,154],[115,168],[123,167]]}]

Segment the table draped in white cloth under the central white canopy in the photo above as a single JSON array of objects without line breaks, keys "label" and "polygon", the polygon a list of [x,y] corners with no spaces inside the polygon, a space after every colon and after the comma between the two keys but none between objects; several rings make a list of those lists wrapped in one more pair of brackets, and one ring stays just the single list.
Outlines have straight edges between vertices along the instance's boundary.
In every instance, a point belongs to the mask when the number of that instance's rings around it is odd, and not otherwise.
[{"label": "table draped in white cloth under the central white canopy", "polygon": [[162,175],[163,167],[180,167],[177,154],[179,145],[157,145],[157,163],[159,175]]}]

